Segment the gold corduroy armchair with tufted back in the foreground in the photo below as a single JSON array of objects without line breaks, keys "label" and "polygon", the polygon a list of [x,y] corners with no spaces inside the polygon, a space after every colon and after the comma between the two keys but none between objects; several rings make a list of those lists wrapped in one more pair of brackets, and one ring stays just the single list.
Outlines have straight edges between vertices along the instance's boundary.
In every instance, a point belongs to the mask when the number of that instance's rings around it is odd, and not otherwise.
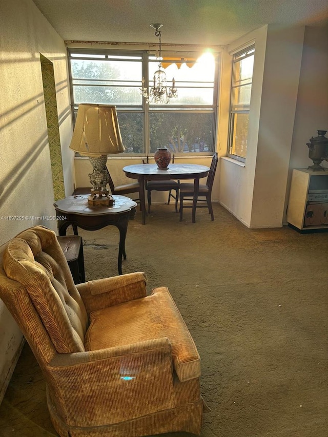
[{"label": "gold corduroy armchair with tufted back in the foreground", "polygon": [[166,287],[144,273],[74,285],[53,231],[0,247],[0,297],[46,380],[61,437],[200,434],[200,358]]}]

